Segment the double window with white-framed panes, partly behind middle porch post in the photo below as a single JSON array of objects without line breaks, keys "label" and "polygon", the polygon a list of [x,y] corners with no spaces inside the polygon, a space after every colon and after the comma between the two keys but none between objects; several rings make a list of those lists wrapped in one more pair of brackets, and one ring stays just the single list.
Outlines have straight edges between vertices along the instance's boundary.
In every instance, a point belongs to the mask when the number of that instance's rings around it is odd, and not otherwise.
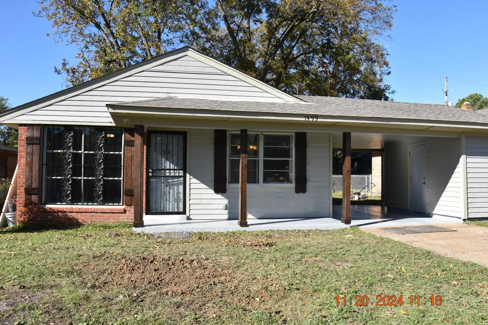
[{"label": "double window with white-framed panes, partly behind middle porch post", "polygon": [[[228,184],[239,184],[239,133],[228,135]],[[248,133],[247,184],[293,184],[293,134]]]}]

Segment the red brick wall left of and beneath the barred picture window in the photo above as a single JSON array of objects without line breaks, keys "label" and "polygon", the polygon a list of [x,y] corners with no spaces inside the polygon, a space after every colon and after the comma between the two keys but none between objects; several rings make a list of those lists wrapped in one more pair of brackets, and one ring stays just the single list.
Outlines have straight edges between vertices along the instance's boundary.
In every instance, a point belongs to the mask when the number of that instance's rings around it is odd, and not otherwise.
[{"label": "red brick wall left of and beneath the barred picture window", "polygon": [[[85,224],[98,222],[113,223],[118,221],[134,221],[134,207],[132,206],[106,206],[102,208],[95,208],[90,206],[60,205],[48,208],[42,207],[39,202],[34,202],[34,199],[32,201],[26,199],[26,195],[24,194],[24,187],[26,177],[27,145],[25,143],[25,140],[27,137],[27,127],[28,125],[20,125],[19,127],[17,223]],[[39,169],[39,175],[42,175],[41,162],[42,155],[39,156],[37,161],[33,161],[33,166],[36,166]],[[41,180],[39,181],[39,184],[42,184]],[[41,188],[40,193],[42,193]],[[35,195],[32,195],[32,197],[35,197]],[[41,195],[39,195],[39,198],[41,198]]]}]

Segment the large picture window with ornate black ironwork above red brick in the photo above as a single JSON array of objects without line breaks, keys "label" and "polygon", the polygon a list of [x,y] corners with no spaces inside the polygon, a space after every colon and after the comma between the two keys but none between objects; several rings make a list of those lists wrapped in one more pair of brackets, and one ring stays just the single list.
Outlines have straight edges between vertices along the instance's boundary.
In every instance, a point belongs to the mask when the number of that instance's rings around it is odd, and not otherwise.
[{"label": "large picture window with ornate black ironwork above red brick", "polygon": [[46,126],[45,204],[122,204],[122,128]]}]

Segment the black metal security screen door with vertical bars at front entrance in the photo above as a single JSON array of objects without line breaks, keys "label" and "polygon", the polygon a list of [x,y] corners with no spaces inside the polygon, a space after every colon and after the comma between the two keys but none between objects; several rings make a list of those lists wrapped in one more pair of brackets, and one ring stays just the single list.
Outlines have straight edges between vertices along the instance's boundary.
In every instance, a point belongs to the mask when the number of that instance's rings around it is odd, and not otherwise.
[{"label": "black metal security screen door with vertical bars at front entrance", "polygon": [[186,132],[150,132],[148,214],[185,213]]}]

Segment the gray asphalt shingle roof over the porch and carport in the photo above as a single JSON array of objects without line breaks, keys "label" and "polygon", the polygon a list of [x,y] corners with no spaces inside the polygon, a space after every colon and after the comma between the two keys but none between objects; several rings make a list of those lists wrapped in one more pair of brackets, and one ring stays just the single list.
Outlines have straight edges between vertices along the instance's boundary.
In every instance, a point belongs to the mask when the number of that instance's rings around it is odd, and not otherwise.
[{"label": "gray asphalt shingle roof over the porch and carport", "polygon": [[230,101],[166,96],[107,106],[187,108],[214,111],[286,113],[351,117],[386,117],[447,122],[488,123],[488,115],[437,104],[323,96],[296,96],[304,102]]}]

